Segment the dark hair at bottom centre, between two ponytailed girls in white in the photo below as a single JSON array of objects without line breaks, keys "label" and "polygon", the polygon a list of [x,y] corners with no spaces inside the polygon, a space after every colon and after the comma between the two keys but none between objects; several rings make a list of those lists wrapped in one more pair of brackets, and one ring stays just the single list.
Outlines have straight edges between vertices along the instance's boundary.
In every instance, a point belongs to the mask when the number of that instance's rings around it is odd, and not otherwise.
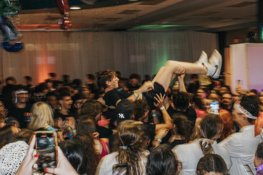
[{"label": "dark hair at bottom centre, between two ponytailed girls in white", "polygon": [[178,163],[171,147],[161,144],[148,156],[146,175],[174,175],[178,171]]}]

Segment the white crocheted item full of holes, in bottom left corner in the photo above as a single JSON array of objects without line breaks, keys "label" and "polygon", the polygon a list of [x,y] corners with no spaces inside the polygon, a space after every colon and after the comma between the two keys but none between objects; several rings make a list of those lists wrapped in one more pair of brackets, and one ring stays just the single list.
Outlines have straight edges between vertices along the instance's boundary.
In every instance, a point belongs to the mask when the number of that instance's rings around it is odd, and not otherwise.
[{"label": "white crocheted item full of holes, in bottom left corner", "polygon": [[14,175],[27,155],[29,145],[16,141],[3,146],[0,150],[0,174]]}]

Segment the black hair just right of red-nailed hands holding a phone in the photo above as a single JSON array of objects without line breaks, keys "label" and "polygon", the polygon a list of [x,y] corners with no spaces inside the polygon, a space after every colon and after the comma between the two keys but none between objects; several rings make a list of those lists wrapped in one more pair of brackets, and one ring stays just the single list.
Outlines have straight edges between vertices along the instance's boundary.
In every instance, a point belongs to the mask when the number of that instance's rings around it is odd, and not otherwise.
[{"label": "black hair just right of red-nailed hands holding a phone", "polygon": [[85,174],[87,172],[86,154],[77,142],[65,140],[60,142],[58,146],[78,174]]}]

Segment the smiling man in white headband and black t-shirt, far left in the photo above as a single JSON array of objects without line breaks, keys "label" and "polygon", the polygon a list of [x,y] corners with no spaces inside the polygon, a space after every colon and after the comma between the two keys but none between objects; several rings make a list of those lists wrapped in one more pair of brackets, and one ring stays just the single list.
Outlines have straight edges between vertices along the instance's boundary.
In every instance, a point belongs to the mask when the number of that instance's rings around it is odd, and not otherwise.
[{"label": "smiling man in white headband and black t-shirt, far left", "polygon": [[8,116],[15,117],[21,126],[21,129],[27,128],[28,123],[31,121],[31,107],[27,103],[28,89],[23,85],[16,85],[15,87],[15,104],[8,108]]}]

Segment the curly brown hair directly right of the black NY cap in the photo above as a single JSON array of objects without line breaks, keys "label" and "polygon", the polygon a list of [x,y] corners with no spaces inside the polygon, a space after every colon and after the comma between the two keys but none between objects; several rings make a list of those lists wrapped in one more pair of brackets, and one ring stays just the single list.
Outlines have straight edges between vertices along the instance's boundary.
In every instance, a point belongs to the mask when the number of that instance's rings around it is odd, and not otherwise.
[{"label": "curly brown hair directly right of the black NY cap", "polygon": [[141,118],[146,112],[150,110],[150,107],[146,100],[134,101],[134,120]]}]

